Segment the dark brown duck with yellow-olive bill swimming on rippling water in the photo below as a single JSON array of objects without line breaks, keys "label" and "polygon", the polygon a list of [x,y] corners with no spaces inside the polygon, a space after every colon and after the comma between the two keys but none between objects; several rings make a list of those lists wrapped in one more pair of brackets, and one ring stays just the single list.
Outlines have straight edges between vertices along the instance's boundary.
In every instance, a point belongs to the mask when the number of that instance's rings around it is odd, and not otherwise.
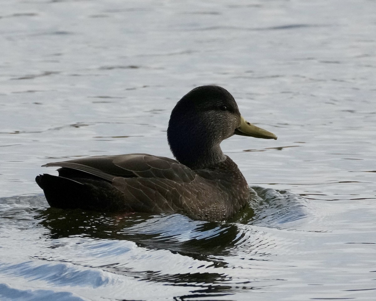
[{"label": "dark brown duck with yellow-olive bill swimming on rippling water", "polygon": [[35,181],[50,207],[225,221],[250,198],[246,179],[220,147],[233,135],[277,139],[247,122],[226,89],[200,86],[171,112],[167,140],[176,160],[143,153],[78,158],[42,165],[59,167],[59,174]]}]

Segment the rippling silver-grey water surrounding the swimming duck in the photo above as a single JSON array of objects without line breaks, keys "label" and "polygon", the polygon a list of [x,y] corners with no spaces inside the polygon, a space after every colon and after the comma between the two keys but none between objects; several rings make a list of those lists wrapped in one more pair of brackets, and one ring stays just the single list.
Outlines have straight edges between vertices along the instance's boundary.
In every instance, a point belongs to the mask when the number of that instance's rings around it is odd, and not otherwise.
[{"label": "rippling silver-grey water surrounding the swimming duck", "polygon": [[[0,12],[0,299],[374,300],[374,1],[12,1]],[[218,84],[277,141],[222,149],[259,202],[226,223],[49,208],[64,158],[171,157]]]}]

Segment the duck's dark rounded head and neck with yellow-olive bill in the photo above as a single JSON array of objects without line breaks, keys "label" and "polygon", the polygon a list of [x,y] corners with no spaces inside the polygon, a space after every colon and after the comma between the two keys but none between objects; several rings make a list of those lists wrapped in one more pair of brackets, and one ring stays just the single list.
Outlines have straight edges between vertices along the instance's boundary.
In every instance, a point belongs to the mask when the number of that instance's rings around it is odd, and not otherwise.
[{"label": "duck's dark rounded head and neck with yellow-olive bill", "polygon": [[232,135],[277,139],[247,122],[226,89],[211,85],[194,88],[183,96],[171,112],[167,129],[171,152],[192,169],[224,161],[220,143]]}]

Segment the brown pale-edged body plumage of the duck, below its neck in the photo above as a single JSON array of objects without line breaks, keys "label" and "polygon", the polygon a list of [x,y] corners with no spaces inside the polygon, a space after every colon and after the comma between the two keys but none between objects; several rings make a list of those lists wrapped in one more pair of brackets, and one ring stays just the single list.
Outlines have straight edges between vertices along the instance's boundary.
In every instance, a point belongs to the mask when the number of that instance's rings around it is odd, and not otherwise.
[{"label": "brown pale-edged body plumage of the duck, below its neck", "polygon": [[[94,201],[77,202],[77,208],[89,210],[181,212],[197,219],[223,220],[243,208],[249,196],[246,180],[227,156],[217,166],[201,170],[147,154],[88,157],[45,166],[63,166],[57,181],[69,178],[96,195]],[[38,181],[42,189],[47,188],[42,179]]]}]

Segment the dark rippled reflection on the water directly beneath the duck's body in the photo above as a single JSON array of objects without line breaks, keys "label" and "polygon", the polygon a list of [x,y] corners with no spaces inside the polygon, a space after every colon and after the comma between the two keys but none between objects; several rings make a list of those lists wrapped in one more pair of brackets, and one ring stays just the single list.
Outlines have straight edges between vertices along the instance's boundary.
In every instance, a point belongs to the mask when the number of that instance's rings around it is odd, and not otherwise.
[{"label": "dark rippled reflection on the water directly beneath the duck's body", "polygon": [[128,240],[148,249],[167,249],[205,260],[226,255],[243,238],[236,224],[192,220],[181,214],[114,215],[48,208],[35,216],[48,237],[91,237]]}]

